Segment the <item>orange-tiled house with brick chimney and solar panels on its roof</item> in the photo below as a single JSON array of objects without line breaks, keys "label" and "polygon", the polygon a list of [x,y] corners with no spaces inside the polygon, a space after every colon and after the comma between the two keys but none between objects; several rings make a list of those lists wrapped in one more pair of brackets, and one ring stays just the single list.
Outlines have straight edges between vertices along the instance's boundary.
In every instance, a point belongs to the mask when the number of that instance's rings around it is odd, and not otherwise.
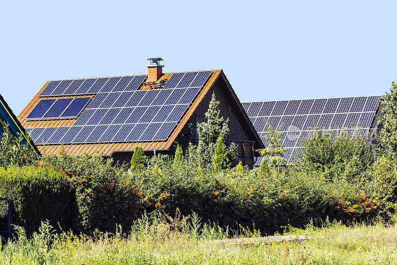
[{"label": "orange-tiled house with brick chimney and solar panels on its roof", "polygon": [[150,60],[146,74],[47,81],[18,120],[48,155],[63,147],[128,164],[136,145],[155,154],[175,142],[197,142],[197,123],[205,121],[214,93],[230,120],[227,142],[238,145],[243,164],[253,165],[254,150],[264,144],[223,71],[163,73],[162,59]]}]

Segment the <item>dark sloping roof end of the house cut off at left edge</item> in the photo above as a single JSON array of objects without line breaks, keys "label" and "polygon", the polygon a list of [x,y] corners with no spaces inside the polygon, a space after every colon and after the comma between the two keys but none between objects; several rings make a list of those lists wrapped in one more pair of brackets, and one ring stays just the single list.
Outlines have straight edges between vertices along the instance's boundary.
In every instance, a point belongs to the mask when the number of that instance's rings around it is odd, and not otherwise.
[{"label": "dark sloping roof end of the house cut off at left edge", "polygon": [[[14,136],[18,136],[18,133],[26,134],[25,129],[19,123],[18,119],[8,106],[7,102],[5,102],[4,98],[0,95],[0,137],[4,133],[3,124],[8,124],[8,128],[10,133]],[[30,140],[25,141],[26,144],[29,144],[34,150],[37,150],[36,146]]]}]

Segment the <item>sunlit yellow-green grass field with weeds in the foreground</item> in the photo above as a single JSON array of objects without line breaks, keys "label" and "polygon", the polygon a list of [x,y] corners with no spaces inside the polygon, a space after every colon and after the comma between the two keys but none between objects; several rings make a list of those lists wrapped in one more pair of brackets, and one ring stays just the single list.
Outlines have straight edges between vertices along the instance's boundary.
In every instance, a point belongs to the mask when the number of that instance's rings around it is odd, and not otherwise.
[{"label": "sunlit yellow-green grass field with weeds in the foreground", "polygon": [[219,243],[211,239],[224,237],[225,230],[209,226],[200,236],[153,228],[140,226],[128,238],[64,236],[49,249],[52,236],[44,227],[34,239],[22,236],[5,247],[0,264],[397,264],[397,226],[292,228],[286,234],[313,238],[269,244]]}]

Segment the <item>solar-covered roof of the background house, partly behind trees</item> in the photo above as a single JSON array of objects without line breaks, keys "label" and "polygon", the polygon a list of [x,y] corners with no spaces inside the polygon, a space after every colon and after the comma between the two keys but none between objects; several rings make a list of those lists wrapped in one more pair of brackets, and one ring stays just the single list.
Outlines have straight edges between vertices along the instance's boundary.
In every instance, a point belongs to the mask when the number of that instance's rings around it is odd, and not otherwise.
[{"label": "solar-covered roof of the background house, partly behind trees", "polygon": [[[350,135],[371,135],[378,133],[379,104],[382,96],[319,98],[304,100],[279,100],[244,102],[243,107],[256,131],[268,146],[264,135],[268,126],[281,134],[286,148],[287,163],[301,149],[302,139],[308,138],[316,126],[323,132],[349,133]],[[375,138],[369,137],[371,142]],[[255,165],[261,165],[258,157]]]}]

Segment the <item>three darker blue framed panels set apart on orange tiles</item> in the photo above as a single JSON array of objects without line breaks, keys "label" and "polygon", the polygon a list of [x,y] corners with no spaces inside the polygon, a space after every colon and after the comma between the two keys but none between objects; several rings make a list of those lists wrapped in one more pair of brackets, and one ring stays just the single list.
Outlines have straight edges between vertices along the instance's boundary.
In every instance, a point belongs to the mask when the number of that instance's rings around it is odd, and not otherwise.
[{"label": "three darker blue framed panels set apart on orange tiles", "polygon": [[42,99],[26,120],[55,120],[77,118],[92,97]]}]

